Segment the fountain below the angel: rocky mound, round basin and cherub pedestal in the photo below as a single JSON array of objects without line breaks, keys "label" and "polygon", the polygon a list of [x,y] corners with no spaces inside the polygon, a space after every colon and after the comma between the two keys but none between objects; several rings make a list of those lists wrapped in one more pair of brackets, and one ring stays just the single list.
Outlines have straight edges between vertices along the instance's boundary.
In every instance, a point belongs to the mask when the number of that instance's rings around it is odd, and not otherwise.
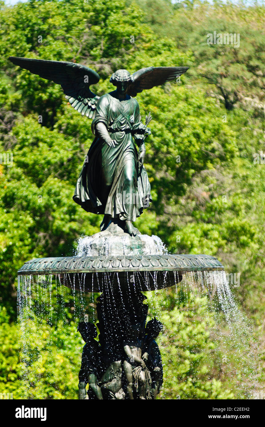
[{"label": "fountain below the angel: rocky mound, round basin and cherub pedestal", "polygon": [[[124,399],[155,398],[163,382],[162,361],[154,341],[162,325],[156,319],[146,325],[148,305],[143,304],[146,297],[142,292],[177,285],[188,272],[209,271],[223,272],[224,267],[210,255],[167,254],[154,237],[130,236],[112,222],[106,230],[81,240],[78,256],[33,259],[18,275],[55,276],[74,292],[101,292],[96,309],[99,342],[94,339],[92,323],[79,323],[87,342],[79,373],[79,398],[86,397],[89,383],[90,399]],[[213,291],[214,284],[207,285]],[[145,353],[147,360],[140,356]],[[154,371],[154,364],[160,371]],[[126,385],[131,384],[130,369],[136,371],[136,387]]]}]

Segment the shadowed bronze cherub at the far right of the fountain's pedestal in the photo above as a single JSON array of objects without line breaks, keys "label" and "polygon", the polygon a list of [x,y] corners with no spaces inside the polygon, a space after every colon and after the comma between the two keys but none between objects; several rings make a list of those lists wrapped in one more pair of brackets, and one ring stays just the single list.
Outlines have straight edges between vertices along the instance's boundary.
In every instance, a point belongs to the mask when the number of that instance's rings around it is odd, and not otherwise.
[{"label": "shadowed bronze cherub at the far right of the fountain's pedestal", "polygon": [[143,342],[143,360],[148,367],[151,374],[151,390],[152,396],[155,399],[157,394],[160,392],[163,383],[163,366],[160,350],[155,341],[160,331],[163,329],[163,325],[155,317],[146,324],[147,335]]}]

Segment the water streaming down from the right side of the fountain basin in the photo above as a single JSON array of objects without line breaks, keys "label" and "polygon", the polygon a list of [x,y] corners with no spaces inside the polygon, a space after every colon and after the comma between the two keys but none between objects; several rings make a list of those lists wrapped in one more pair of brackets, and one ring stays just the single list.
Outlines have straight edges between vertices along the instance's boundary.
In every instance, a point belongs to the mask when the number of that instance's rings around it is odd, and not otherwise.
[{"label": "water streaming down from the right side of the fountain basin", "polygon": [[[178,272],[177,272],[178,274]],[[160,304],[159,294],[165,292],[172,294],[175,301],[181,293],[186,312],[191,310],[189,304],[192,298],[198,300],[199,304],[204,304],[204,298],[207,297],[207,306],[210,313],[213,314],[215,324],[210,329],[210,338],[215,343],[215,363],[221,367],[221,379],[229,384],[229,378],[235,378],[240,390],[240,398],[254,398],[259,381],[259,356],[257,342],[253,338],[253,328],[249,319],[243,311],[239,309],[233,294],[227,282],[227,276],[224,271],[201,271],[187,272],[183,275],[181,283],[175,284],[175,292],[172,292],[172,287],[149,292],[149,312],[150,316],[155,316],[163,323],[163,313],[165,307]],[[190,296],[191,295],[191,296]],[[177,306],[181,306],[181,301]],[[168,316],[169,308],[166,307],[166,316]],[[192,308],[195,316],[195,311]],[[180,312],[181,313],[181,312]],[[204,321],[204,319],[202,319]],[[168,353],[169,340],[167,334],[170,331],[165,331],[163,338],[160,340],[160,350],[163,342],[166,342],[165,354]],[[172,338],[171,338],[172,340]],[[175,348],[178,348],[176,342]],[[175,350],[172,351],[173,358]],[[164,366],[165,377],[169,371],[170,363],[174,360],[168,360],[169,365]],[[172,375],[172,371],[171,371]],[[177,379],[176,379],[177,381]],[[166,396],[166,394],[165,394]],[[162,391],[163,398],[163,391]],[[184,398],[183,396],[181,398]]]}]

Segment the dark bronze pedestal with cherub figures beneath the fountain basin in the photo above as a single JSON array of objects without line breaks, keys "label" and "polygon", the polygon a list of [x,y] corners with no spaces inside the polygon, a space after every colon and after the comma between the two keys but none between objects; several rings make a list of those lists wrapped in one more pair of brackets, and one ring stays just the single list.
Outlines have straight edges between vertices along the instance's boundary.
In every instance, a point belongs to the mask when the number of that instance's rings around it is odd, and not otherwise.
[{"label": "dark bronze pedestal with cherub figures beneath the fountain basin", "polygon": [[163,325],[152,319],[146,324],[146,297],[137,289],[97,299],[99,342],[96,327],[80,322],[86,342],[79,372],[79,399],[155,399],[163,383],[163,366],[155,339]]}]

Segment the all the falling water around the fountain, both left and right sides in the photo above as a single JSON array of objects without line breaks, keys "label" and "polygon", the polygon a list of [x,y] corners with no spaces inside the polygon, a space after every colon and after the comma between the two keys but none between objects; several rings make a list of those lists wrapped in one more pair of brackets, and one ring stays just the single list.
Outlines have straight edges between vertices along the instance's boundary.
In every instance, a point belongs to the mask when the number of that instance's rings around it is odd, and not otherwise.
[{"label": "all the falling water around the fountain, both left and right sides", "polygon": [[[153,239],[157,251],[165,249],[163,243]],[[105,242],[108,245],[108,242]],[[162,243],[162,244],[161,244]],[[79,240],[77,254],[91,254],[93,252],[92,242],[89,237]],[[67,275],[37,275],[18,277],[17,287],[17,309],[18,319],[21,326],[21,341],[23,353],[23,381],[25,383],[25,397],[30,398],[32,387],[38,386],[38,378],[42,374],[44,362],[58,358],[54,354],[54,346],[57,345],[57,337],[63,336],[67,340],[67,333],[64,329],[72,328],[77,347],[82,347],[82,341],[76,332],[76,325],[79,321],[95,322],[95,300],[99,294],[85,292],[85,275],[73,275],[72,289],[64,286],[67,284]],[[119,289],[125,286],[120,282],[119,275],[117,282]],[[145,292],[148,296],[150,316],[155,316],[163,323],[163,313],[170,310],[166,307],[166,301],[174,300],[175,305],[179,306],[181,298],[189,304],[191,298],[201,298],[203,301],[207,297],[208,307],[213,313],[215,325],[210,329],[210,336],[215,342],[216,363],[224,365],[223,360],[218,360],[218,351],[225,357],[224,376],[233,369],[233,376],[237,377],[239,382],[248,378],[248,385],[244,386],[244,396],[251,398],[257,381],[257,356],[256,344],[253,342],[253,331],[248,324],[248,319],[239,310],[233,294],[227,282],[224,271],[201,271],[187,272],[183,274],[183,280],[179,281],[179,272],[174,273],[175,287],[169,287],[163,290]],[[131,272],[125,275],[127,281],[127,292],[130,295]],[[158,280],[162,280],[164,285],[169,284],[168,272],[134,272],[135,286],[141,283],[146,284],[146,289],[157,289]],[[68,276],[68,279],[69,276]],[[108,286],[107,286],[108,285]],[[97,288],[104,287],[106,292],[107,307],[113,303],[114,295],[111,287],[111,276],[108,272],[100,277],[97,273],[93,274],[93,286]],[[166,298],[161,298],[166,295]],[[189,310],[186,307],[185,310]],[[115,307],[114,312],[115,313]],[[106,313],[103,313],[105,316]],[[72,326],[71,326],[72,325]],[[161,339],[167,342],[168,338],[164,334]],[[61,341],[60,341],[61,342]],[[59,345],[59,344],[58,344]],[[61,345],[61,344],[60,344]],[[175,343],[176,348],[178,343]],[[77,357],[78,358],[78,357]],[[80,354],[79,354],[80,358]],[[72,365],[69,361],[70,366]],[[45,365],[46,366],[46,365]],[[75,366],[76,375],[78,374],[79,364]],[[166,371],[169,369],[165,366]],[[48,372],[52,382],[52,372]],[[30,386],[29,386],[30,384]],[[41,395],[45,393],[40,391]],[[162,392],[163,393],[163,392]],[[163,396],[163,394],[162,394]]]}]

